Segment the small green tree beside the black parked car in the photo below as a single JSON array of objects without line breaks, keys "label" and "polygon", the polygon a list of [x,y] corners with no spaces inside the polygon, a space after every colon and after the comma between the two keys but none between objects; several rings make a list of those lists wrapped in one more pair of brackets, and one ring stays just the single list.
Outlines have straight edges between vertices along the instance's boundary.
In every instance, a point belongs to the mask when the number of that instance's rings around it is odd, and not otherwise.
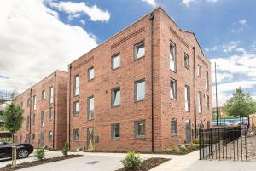
[{"label": "small green tree beside the black parked car", "polygon": [[9,130],[9,132],[13,135],[14,142],[14,134],[21,127],[23,122],[23,110],[20,105],[15,105],[12,100],[9,105],[7,105],[3,111],[3,122],[5,128]]}]

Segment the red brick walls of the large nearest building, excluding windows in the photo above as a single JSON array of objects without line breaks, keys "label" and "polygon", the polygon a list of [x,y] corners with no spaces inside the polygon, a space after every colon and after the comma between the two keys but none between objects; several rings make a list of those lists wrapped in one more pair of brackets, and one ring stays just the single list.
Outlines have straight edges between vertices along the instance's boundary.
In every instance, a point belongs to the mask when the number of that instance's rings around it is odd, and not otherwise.
[{"label": "red brick walls of the large nearest building, excluding windows", "polygon": [[[150,77],[150,21],[149,14],[143,19],[119,32],[102,45],[84,54],[71,64],[71,95],[70,95],[70,127],[71,148],[87,149],[87,128],[96,128],[95,135],[99,136],[96,150],[104,151],[151,151],[151,77]],[[170,27],[172,29],[170,29]],[[137,33],[139,32],[139,33]],[[145,56],[134,60],[133,45],[144,40]],[[177,46],[177,72],[169,69],[170,40]],[[185,121],[191,120],[195,128],[194,117],[194,82],[193,82],[193,47],[195,47],[195,66],[201,64],[202,77],[196,77],[197,91],[209,94],[205,90],[205,71],[209,72],[211,79],[211,66],[201,53],[192,33],[180,31],[176,24],[161,9],[154,11],[154,150],[165,149],[172,145],[182,144],[185,141]],[[121,66],[111,71],[111,56],[120,53]],[[183,55],[189,54],[190,68],[184,68]],[[201,60],[199,60],[201,58]],[[95,68],[95,78],[87,81],[87,70]],[[196,69],[196,68],[195,68]],[[74,97],[74,77],[79,74],[80,94]],[[170,78],[177,80],[177,100],[170,99]],[[145,78],[146,100],[134,102],[134,82]],[[190,87],[190,111],[184,111],[184,85]],[[120,87],[121,105],[111,107],[111,89]],[[87,121],[87,98],[94,95],[95,117]],[[73,116],[73,102],[79,100],[79,116]],[[211,100],[210,110],[206,109],[203,96],[203,112],[196,114],[197,123],[212,121]],[[196,102],[197,103],[197,102]],[[209,113],[209,114],[207,114]],[[178,134],[171,136],[171,118],[178,120]],[[134,122],[140,119],[146,121],[146,138],[134,138]],[[120,123],[120,139],[111,140],[111,124]],[[79,141],[73,141],[73,129],[79,129]]]}]

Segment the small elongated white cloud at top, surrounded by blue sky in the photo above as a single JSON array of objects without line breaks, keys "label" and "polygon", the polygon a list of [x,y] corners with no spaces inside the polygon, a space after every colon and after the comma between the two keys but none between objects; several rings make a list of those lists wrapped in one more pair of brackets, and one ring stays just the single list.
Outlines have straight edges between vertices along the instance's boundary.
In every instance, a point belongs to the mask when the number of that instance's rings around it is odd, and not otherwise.
[{"label": "small elongated white cloud at top, surrounded by blue sky", "polygon": [[48,0],[45,2],[48,3],[51,8],[58,9],[59,11],[65,12],[67,14],[87,14],[92,21],[108,21],[110,18],[110,14],[107,10],[99,9],[96,5],[89,7],[84,2],[54,2],[52,0]]}]

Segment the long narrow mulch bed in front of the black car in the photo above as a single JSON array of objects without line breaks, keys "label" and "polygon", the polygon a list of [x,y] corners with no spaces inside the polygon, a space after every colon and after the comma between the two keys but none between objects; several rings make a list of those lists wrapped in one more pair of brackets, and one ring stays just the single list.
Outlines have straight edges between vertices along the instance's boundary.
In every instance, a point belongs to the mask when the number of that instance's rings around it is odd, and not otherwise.
[{"label": "long narrow mulch bed in front of the black car", "polygon": [[23,163],[17,164],[15,167],[12,167],[11,164],[8,164],[5,167],[0,168],[0,170],[1,171],[13,171],[13,170],[21,169],[21,168],[29,168],[32,166],[38,166],[40,164],[45,164],[45,163],[49,163],[49,162],[58,162],[61,160],[66,160],[69,158],[80,157],[80,156],[81,155],[67,155],[67,156],[62,156],[62,157],[46,158],[46,159],[39,160],[39,161],[23,162]]}]

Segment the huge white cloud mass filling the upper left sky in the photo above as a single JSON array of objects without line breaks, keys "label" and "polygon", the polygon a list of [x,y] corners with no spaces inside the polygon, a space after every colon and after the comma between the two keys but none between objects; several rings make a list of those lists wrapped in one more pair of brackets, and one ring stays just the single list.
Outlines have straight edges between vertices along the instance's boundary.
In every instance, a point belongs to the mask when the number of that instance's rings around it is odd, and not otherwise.
[{"label": "huge white cloud mass filling the upper left sky", "polygon": [[[54,14],[54,15],[53,15]],[[0,88],[23,91],[96,47],[96,38],[67,25],[42,1],[0,3]]]}]

